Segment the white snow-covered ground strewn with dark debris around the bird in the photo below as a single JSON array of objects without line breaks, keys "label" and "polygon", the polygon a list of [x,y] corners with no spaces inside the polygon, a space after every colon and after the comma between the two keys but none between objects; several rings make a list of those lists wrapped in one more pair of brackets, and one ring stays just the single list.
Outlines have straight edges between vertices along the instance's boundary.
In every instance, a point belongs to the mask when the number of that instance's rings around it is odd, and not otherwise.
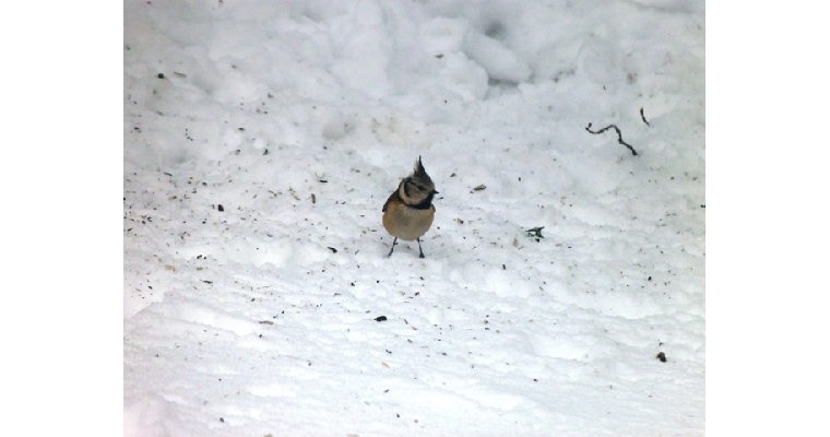
[{"label": "white snow-covered ground strewn with dark debris around the bird", "polygon": [[[124,435],[702,435],[704,33],[702,1],[127,1]],[[387,259],[418,156],[426,259]]]}]

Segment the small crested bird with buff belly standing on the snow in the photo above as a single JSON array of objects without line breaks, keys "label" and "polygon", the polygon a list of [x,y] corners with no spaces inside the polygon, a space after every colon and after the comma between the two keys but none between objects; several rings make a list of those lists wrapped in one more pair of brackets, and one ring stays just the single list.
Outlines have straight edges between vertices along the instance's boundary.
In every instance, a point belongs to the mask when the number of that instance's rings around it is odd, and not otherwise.
[{"label": "small crested bird with buff belly standing on the snow", "polygon": [[418,156],[412,174],[401,180],[398,189],[389,196],[387,203],[383,204],[383,227],[389,235],[394,237],[392,249],[387,258],[391,257],[395,250],[398,238],[406,241],[417,240],[420,252],[418,258],[425,258],[424,249],[420,248],[420,237],[432,225],[432,218],[435,218],[432,197],[435,194],[438,194],[438,191],[435,190],[435,184],[427,175],[420,156]]}]

